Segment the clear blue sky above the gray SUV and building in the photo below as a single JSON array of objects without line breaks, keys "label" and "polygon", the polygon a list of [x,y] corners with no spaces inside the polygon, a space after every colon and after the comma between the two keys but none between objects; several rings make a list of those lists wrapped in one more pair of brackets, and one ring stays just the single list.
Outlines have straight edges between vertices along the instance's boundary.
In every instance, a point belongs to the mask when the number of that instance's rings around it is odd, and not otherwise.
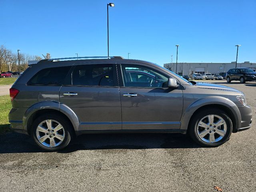
[{"label": "clear blue sky above the gray SUV and building", "polygon": [[[0,44],[52,58],[107,55],[106,0],[0,0]],[[110,56],[256,62],[255,0],[113,0]]]}]

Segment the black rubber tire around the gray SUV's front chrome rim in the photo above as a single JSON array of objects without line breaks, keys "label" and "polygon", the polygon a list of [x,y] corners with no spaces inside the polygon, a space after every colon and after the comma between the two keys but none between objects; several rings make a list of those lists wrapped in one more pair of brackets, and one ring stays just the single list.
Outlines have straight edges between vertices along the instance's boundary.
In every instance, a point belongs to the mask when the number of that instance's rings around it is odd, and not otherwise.
[{"label": "black rubber tire around the gray SUV's front chrome rim", "polygon": [[[197,125],[198,125],[199,121],[202,118],[204,118],[205,116],[210,115],[210,114],[214,114],[214,115],[220,116],[226,122],[226,134],[223,136],[223,138],[221,140],[219,140],[217,142],[214,142],[214,143],[208,143],[208,142],[203,141],[198,136],[198,132],[197,132]],[[192,120],[191,120],[191,122],[189,124],[188,133],[190,134],[190,137],[197,144],[199,144],[200,146],[204,146],[204,147],[217,147],[217,146],[220,146],[220,145],[224,144],[227,140],[229,140],[230,135],[232,133],[232,129],[233,129],[232,128],[232,121],[230,120],[230,118],[228,117],[228,115],[224,111],[219,110],[219,109],[207,109],[207,110],[203,110],[202,112],[198,112],[198,114],[196,114],[195,116],[192,117]],[[207,132],[208,132],[208,130],[207,130]],[[207,136],[208,135],[206,135],[205,137],[207,137]],[[210,137],[210,135],[209,135],[209,137]]]}]

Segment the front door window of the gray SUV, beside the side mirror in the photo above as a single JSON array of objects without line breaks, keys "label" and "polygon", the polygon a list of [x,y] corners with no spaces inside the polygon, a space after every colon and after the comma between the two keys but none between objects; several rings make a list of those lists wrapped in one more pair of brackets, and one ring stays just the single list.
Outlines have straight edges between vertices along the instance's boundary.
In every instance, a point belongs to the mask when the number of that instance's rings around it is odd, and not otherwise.
[{"label": "front door window of the gray SUV, beside the side mirror", "polygon": [[122,74],[126,87],[168,87],[168,76],[145,66],[122,65]]}]

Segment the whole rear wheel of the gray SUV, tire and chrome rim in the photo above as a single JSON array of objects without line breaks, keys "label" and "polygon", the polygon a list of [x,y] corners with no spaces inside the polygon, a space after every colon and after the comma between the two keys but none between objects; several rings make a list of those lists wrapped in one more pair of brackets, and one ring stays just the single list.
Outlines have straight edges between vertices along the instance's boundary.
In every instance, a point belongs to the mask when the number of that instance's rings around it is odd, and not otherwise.
[{"label": "whole rear wheel of the gray SUV, tire and chrome rim", "polygon": [[58,151],[68,146],[74,134],[66,118],[58,114],[45,114],[36,118],[31,135],[40,148]]}]

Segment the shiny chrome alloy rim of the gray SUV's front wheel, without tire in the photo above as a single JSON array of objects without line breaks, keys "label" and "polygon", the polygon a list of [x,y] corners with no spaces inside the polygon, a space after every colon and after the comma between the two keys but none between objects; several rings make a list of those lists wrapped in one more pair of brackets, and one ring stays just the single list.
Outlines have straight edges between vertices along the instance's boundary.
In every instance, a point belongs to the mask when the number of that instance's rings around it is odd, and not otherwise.
[{"label": "shiny chrome alloy rim of the gray SUV's front wheel, without tire", "polygon": [[197,124],[197,134],[206,143],[216,143],[226,135],[226,121],[218,115],[203,117]]}]

